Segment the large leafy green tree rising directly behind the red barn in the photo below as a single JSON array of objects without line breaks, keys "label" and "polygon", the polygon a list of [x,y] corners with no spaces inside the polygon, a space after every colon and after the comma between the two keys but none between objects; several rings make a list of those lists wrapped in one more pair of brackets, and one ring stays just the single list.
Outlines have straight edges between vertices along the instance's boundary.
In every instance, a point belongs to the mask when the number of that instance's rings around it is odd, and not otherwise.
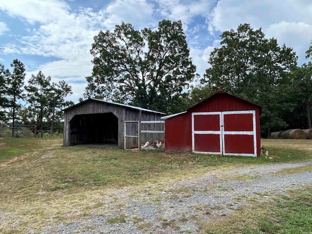
[{"label": "large leafy green tree rising directly behind the red barn", "polygon": [[295,53],[285,45],[278,46],[274,38],[266,39],[261,28],[254,30],[249,24],[240,24],[237,31],[225,31],[220,37],[221,47],[211,53],[211,67],[201,83],[261,105],[261,129],[270,137],[272,129],[287,125],[281,114],[293,108],[288,93]]}]

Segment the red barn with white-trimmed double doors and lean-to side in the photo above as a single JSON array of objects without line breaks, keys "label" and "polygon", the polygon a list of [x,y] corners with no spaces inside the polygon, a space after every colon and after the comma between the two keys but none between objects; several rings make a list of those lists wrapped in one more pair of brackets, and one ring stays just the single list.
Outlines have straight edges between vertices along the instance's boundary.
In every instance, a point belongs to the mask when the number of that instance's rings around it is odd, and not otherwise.
[{"label": "red barn with white-trimmed double doors and lean-to side", "polygon": [[261,106],[219,91],[165,120],[165,151],[259,156]]}]

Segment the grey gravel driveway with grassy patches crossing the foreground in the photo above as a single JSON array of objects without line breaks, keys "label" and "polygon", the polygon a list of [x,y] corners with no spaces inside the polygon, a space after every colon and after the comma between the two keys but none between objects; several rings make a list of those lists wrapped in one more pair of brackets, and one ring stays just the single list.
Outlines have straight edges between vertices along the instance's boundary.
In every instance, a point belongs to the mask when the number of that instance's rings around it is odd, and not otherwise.
[{"label": "grey gravel driveway with grassy patches crossing the foreground", "polygon": [[[126,188],[102,197],[105,205],[95,215],[71,224],[45,227],[41,234],[187,234],[198,231],[197,221],[220,218],[242,205],[246,196],[281,194],[312,185],[312,172],[278,175],[283,169],[311,165],[312,161],[213,171],[184,181],[164,181],[157,187]],[[261,196],[259,196],[261,199]]]}]

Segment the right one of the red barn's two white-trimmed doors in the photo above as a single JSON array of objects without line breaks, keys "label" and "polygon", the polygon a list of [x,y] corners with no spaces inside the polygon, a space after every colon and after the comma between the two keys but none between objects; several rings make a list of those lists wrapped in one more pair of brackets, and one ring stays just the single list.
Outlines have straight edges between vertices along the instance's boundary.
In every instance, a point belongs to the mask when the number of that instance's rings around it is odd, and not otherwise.
[{"label": "right one of the red barn's two white-trimmed doors", "polygon": [[223,155],[256,156],[255,111],[222,112]]}]

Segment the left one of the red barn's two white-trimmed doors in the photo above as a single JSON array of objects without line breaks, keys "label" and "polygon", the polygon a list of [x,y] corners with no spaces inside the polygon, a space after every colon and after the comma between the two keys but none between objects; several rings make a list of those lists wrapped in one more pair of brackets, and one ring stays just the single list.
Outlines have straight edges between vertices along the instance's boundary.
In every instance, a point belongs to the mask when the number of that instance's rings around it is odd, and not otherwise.
[{"label": "left one of the red barn's two white-trimmed doors", "polygon": [[194,153],[222,155],[221,112],[192,113]]}]

